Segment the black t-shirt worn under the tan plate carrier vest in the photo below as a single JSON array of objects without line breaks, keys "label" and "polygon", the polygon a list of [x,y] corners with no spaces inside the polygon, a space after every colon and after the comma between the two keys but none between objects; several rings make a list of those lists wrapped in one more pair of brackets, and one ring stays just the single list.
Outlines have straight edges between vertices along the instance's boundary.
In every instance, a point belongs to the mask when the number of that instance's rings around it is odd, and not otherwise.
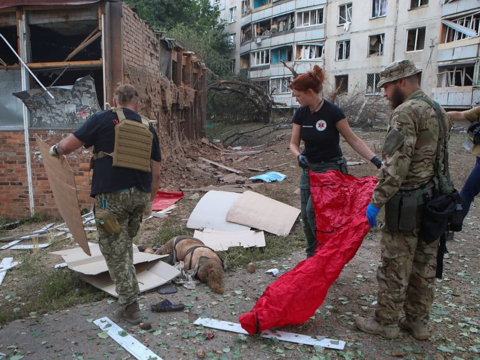
[{"label": "black t-shirt worn under the tan plate carrier vest", "polygon": [[[135,111],[123,108],[125,118],[141,122],[141,117]],[[118,116],[110,110],[103,110],[91,115],[78,129],[73,131],[84,147],[93,146],[93,152],[100,150],[113,152],[115,143],[115,124],[118,123]],[[161,161],[160,141],[155,129],[150,125],[153,134],[150,158],[154,161]],[[95,160],[93,165],[93,176],[91,179],[90,196],[105,192],[113,192],[137,186],[143,191],[151,191],[151,173],[134,170],[126,167],[112,166],[112,157],[103,156]]]}]

